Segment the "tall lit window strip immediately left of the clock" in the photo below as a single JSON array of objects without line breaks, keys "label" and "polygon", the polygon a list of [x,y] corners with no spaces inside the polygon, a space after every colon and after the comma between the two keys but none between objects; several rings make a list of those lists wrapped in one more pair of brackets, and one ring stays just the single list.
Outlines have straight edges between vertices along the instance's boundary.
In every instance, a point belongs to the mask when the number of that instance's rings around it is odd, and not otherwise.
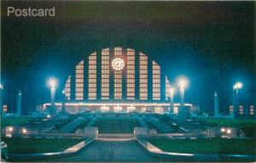
[{"label": "tall lit window strip immediately left of the clock", "polygon": [[102,49],[102,99],[109,99],[109,48]]}]

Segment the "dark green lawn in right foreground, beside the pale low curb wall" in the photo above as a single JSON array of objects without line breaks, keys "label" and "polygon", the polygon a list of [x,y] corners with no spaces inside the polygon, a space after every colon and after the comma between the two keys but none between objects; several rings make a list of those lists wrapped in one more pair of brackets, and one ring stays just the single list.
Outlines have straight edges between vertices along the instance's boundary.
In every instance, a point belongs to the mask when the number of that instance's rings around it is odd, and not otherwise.
[{"label": "dark green lawn in right foreground, beside the pale low curb wall", "polygon": [[148,142],[166,152],[256,155],[255,142],[253,139],[148,139]]}]

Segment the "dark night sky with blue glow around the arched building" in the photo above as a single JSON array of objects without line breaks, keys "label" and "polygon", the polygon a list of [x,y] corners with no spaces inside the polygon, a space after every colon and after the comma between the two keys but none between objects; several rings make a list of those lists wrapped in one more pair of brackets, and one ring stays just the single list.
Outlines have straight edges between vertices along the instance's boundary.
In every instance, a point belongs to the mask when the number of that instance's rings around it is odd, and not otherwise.
[{"label": "dark night sky with blue glow around the arched building", "polygon": [[[244,84],[242,104],[256,104],[254,2],[2,2],[4,102],[15,110],[49,100],[46,80],[59,79],[58,92],[84,56],[123,46],[147,53],[172,83],[188,76],[186,101],[212,110],[231,104],[232,85]],[[51,8],[54,18],[7,17],[6,8]],[[178,94],[177,98],[178,100]]]}]

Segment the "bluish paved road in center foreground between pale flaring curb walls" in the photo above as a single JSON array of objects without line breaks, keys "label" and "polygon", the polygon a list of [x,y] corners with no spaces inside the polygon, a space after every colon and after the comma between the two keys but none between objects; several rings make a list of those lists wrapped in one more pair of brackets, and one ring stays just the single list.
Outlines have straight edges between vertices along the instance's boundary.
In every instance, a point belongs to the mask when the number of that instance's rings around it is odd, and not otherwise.
[{"label": "bluish paved road in center foreground between pale flaring curb walls", "polygon": [[106,141],[96,140],[78,155],[48,161],[80,162],[159,162],[136,140]]}]

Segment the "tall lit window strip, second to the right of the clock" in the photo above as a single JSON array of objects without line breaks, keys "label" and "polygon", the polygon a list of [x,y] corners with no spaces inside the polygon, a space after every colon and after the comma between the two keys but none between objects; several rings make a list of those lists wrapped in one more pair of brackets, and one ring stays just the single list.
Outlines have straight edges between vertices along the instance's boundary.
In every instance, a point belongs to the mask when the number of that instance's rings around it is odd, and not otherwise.
[{"label": "tall lit window strip, second to the right of the clock", "polygon": [[148,56],[140,53],[140,99],[148,99]]}]

